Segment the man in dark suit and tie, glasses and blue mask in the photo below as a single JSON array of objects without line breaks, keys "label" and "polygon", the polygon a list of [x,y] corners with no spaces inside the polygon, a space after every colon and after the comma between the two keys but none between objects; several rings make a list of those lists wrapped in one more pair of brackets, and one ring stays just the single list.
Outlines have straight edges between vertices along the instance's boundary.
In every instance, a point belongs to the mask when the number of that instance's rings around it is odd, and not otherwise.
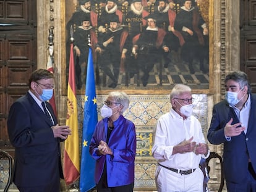
[{"label": "man in dark suit and tie, glasses and blue mask", "polygon": [[29,88],[12,104],[7,120],[9,139],[15,147],[13,182],[21,192],[56,192],[63,178],[59,141],[66,140],[70,129],[58,125],[46,102],[53,96],[53,74],[35,70]]}]

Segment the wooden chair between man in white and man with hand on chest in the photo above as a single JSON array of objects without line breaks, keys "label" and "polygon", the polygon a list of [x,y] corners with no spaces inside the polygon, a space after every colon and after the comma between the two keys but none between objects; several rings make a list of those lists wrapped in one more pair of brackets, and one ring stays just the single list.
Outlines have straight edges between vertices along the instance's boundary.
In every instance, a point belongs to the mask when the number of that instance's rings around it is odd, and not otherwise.
[{"label": "wooden chair between man in white and man with hand on chest", "polygon": [[[223,161],[222,161],[222,157],[217,154],[216,152],[210,152],[210,156],[205,159],[205,161],[201,161],[200,162],[200,169],[203,172],[203,175],[205,175],[205,180],[203,182],[204,185],[204,191],[208,191],[208,187],[207,187],[207,182],[210,179],[209,177],[209,173],[210,173],[210,166],[208,165],[210,160],[213,158],[218,158],[220,160],[220,166],[221,166],[221,182],[220,182],[220,187],[218,189],[218,192],[221,192],[223,190],[223,186],[224,186],[224,172],[223,172]],[[207,169],[207,172],[205,171],[205,169]]]}]

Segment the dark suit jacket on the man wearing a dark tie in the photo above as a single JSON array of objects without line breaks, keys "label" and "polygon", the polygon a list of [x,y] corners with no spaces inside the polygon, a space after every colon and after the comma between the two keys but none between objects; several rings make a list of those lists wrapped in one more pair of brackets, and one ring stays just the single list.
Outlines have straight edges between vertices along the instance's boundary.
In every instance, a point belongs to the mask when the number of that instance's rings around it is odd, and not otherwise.
[{"label": "dark suit jacket on the man wearing a dark tie", "polygon": [[[53,108],[46,102],[55,125]],[[7,120],[9,139],[15,147],[15,185],[35,187],[63,178],[59,138],[32,96],[27,93],[12,104]]]}]

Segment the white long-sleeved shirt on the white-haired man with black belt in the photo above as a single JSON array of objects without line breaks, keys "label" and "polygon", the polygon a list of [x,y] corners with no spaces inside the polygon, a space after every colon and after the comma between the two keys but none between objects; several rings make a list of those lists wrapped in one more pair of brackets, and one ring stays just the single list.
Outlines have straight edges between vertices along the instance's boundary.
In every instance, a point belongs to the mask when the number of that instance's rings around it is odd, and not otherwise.
[{"label": "white long-sleeved shirt on the white-haired man with black belt", "polygon": [[153,157],[158,159],[161,165],[174,169],[195,169],[204,155],[196,155],[194,152],[184,154],[174,154],[173,147],[184,140],[189,140],[193,136],[193,140],[197,144],[205,143],[205,138],[202,133],[200,122],[190,116],[187,119],[177,114],[174,109],[167,114],[164,114],[158,120],[155,130],[153,131]]}]

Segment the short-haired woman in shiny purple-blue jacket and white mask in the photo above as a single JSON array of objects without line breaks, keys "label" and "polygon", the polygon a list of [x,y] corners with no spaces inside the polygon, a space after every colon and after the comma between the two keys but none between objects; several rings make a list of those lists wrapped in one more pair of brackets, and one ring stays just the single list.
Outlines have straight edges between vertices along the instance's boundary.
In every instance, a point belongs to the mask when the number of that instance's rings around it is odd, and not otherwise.
[{"label": "short-haired woman in shiny purple-blue jacket and white mask", "polygon": [[96,160],[95,182],[98,192],[132,192],[136,155],[135,125],[122,115],[129,107],[124,92],[108,94],[101,108],[103,117],[97,123],[90,143],[90,154]]}]

